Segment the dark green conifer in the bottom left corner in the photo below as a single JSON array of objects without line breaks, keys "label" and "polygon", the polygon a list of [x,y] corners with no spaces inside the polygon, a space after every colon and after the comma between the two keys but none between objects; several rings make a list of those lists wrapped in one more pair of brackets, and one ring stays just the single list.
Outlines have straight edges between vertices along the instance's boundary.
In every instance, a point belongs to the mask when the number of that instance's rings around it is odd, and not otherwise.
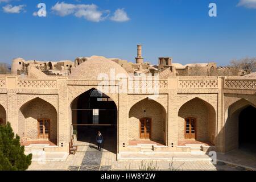
[{"label": "dark green conifer in the bottom left corner", "polygon": [[20,137],[14,137],[11,124],[0,125],[0,171],[24,171],[30,166],[32,154],[24,154]]}]

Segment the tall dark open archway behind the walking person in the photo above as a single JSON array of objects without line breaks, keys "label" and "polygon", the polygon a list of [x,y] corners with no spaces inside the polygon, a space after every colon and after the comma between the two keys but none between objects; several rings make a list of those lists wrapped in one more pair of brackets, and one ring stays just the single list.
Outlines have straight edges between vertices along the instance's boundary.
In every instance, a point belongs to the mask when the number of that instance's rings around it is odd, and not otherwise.
[{"label": "tall dark open archway behind the walking person", "polygon": [[73,130],[77,140],[93,144],[97,131],[104,137],[103,148],[117,152],[117,106],[106,94],[90,89],[75,98],[71,104]]}]

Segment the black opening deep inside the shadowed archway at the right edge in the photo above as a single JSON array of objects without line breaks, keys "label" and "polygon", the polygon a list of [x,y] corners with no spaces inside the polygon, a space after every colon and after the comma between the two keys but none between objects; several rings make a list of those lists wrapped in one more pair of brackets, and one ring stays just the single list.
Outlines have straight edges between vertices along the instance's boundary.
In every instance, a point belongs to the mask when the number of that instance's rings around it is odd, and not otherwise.
[{"label": "black opening deep inside the shadowed archway at the right edge", "polygon": [[247,106],[239,115],[239,148],[256,152],[256,108]]}]

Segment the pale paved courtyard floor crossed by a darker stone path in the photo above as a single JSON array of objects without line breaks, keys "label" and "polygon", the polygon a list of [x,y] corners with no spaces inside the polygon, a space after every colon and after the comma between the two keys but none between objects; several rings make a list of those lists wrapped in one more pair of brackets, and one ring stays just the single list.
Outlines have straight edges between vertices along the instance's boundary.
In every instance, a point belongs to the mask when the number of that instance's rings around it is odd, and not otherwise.
[{"label": "pale paved courtyard floor crossed by a darker stone path", "polygon": [[[52,161],[52,162],[32,162],[28,170],[68,170],[68,171],[93,171],[93,170],[139,170],[148,166],[153,166],[158,170],[245,170],[246,168],[227,165],[219,162],[217,165],[212,164],[209,160],[204,160],[205,156],[201,155],[188,155],[188,154],[175,154],[175,159],[181,160],[173,161],[155,161],[155,162],[141,162],[130,161],[122,162],[116,160],[116,154],[113,145],[115,141],[112,139],[105,140],[104,148],[101,151],[97,150],[96,144],[94,144],[94,137],[85,138],[82,142],[77,142],[78,151],[75,155],[69,155],[66,161]],[[105,149],[107,148],[107,150]],[[231,155],[230,155],[231,154]],[[229,155],[218,154],[218,159],[225,162],[229,161],[232,164],[241,163],[242,166],[251,166],[251,163],[255,164],[254,158],[245,158],[241,160],[239,152],[230,153]],[[182,160],[184,159],[184,160]],[[197,160],[195,160],[197,159]],[[203,159],[203,160],[201,160]],[[250,162],[253,160],[252,162]],[[247,161],[247,162],[246,162]],[[250,163],[249,163],[250,162]],[[144,167],[143,167],[144,166]]]}]

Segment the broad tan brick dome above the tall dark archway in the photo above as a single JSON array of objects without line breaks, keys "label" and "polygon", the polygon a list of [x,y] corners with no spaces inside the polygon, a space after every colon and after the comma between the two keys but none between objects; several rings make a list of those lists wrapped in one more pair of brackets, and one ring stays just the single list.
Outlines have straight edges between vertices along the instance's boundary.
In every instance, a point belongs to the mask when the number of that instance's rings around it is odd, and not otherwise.
[{"label": "broad tan brick dome above the tall dark archway", "polygon": [[[84,63],[81,63],[76,68],[72,69],[71,74],[68,78],[71,79],[82,79],[82,80],[98,80],[98,75],[106,74],[109,77],[109,80],[113,80],[110,77],[110,73],[128,77],[128,73],[123,69],[119,64],[115,63],[112,60],[106,59],[103,56],[92,56]],[[122,75],[120,75],[122,74]]]}]

